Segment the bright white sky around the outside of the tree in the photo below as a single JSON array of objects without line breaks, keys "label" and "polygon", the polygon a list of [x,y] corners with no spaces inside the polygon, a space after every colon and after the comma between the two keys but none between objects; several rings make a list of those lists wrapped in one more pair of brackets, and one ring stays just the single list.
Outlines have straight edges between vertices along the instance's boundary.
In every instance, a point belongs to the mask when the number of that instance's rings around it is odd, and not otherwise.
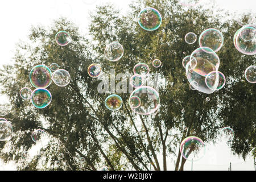
[{"label": "bright white sky around the outside of the tree", "polygon": [[[208,4],[210,1],[212,0],[202,0],[201,3]],[[53,19],[64,15],[80,27],[81,33],[87,32],[89,12],[93,11],[96,5],[106,2],[112,2],[117,8],[126,11],[131,0],[9,0],[1,2],[0,66],[12,64],[11,57],[14,55],[15,44],[19,40],[27,39],[32,25],[48,26]],[[255,0],[216,0],[216,2],[218,6],[232,12],[252,10],[256,13]],[[193,170],[228,170],[230,162],[232,162],[232,170],[254,170],[253,158],[248,158],[244,162],[241,158],[231,155],[225,143],[218,143],[216,146],[209,144],[204,158],[193,163]],[[172,162],[169,160],[168,163]],[[168,166],[168,169],[174,169],[174,164]],[[3,164],[0,161],[0,170],[15,169],[15,164]],[[185,170],[191,170],[191,162],[185,164]]]}]

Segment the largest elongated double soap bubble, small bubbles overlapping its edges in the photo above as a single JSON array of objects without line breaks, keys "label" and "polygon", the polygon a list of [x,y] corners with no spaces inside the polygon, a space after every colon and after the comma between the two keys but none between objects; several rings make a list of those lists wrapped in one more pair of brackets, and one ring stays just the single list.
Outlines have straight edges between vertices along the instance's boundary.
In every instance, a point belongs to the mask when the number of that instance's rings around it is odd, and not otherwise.
[{"label": "largest elongated double soap bubble, small bubbles overlapping its edges", "polygon": [[192,52],[191,57],[194,57],[193,60],[196,60],[196,67],[189,69],[191,66],[191,61],[186,66],[186,73],[188,81],[191,83],[196,81],[198,84],[197,90],[203,93],[213,93],[217,89],[219,76],[217,74],[216,79],[212,89],[209,89],[205,83],[205,77],[212,71],[217,71],[220,65],[220,58],[218,55],[209,47],[200,47]]}]

